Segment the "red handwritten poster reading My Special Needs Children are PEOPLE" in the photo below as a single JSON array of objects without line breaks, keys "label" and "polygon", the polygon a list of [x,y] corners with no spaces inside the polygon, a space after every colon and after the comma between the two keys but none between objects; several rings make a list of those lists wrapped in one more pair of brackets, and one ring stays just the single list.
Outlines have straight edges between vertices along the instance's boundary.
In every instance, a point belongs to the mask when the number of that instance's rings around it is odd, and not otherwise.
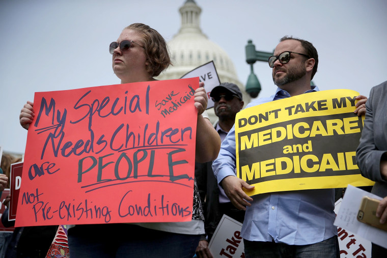
[{"label": "red handwritten poster reading My Special Needs Children are PEOPLE", "polygon": [[190,220],[198,87],[35,93],[16,226]]}]

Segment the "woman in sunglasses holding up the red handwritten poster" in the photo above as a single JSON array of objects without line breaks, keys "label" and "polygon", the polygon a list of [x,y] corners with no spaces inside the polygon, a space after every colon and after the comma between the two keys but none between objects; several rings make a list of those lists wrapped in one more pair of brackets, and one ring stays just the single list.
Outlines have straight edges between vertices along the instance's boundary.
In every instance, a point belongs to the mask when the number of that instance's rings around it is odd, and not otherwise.
[{"label": "woman in sunglasses holding up the red handwritten poster", "polygon": [[[171,65],[167,43],[153,28],[133,23],[109,46],[113,71],[121,83],[152,81]],[[195,92],[198,110],[196,161],[214,160],[220,138],[205,109],[207,94],[200,83]],[[20,124],[29,128],[34,119],[33,103],[20,113]],[[113,193],[114,195],[114,193]],[[76,225],[68,230],[71,257],[192,257],[204,234],[204,217],[195,182],[192,220],[188,222]]]}]

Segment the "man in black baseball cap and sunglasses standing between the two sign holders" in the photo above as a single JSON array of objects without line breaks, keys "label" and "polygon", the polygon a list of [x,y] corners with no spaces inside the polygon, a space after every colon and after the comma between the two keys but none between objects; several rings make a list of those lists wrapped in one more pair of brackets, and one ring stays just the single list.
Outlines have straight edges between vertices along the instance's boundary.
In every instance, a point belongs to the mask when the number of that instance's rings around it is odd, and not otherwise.
[{"label": "man in black baseball cap and sunglasses standing between the two sign holders", "polygon": [[[223,141],[235,123],[236,113],[243,107],[242,93],[236,84],[224,82],[212,89],[210,97],[214,102],[215,115],[219,119],[215,124],[215,130]],[[208,242],[223,214],[243,222],[244,211],[235,208],[224,190],[218,185],[212,172],[212,162],[196,163],[195,177],[202,199],[204,227],[208,237],[201,239],[196,252],[199,257],[212,257],[208,249]]]}]

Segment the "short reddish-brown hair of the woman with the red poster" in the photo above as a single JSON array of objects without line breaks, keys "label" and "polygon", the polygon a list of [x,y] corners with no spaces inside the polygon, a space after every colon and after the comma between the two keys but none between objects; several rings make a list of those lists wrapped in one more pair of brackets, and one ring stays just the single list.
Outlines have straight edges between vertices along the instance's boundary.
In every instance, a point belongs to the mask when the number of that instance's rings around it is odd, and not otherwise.
[{"label": "short reddish-brown hair of the woman with the red poster", "polygon": [[143,23],[133,23],[125,29],[140,33],[149,63],[147,71],[152,77],[158,76],[163,70],[172,65],[167,42],[156,30]]}]

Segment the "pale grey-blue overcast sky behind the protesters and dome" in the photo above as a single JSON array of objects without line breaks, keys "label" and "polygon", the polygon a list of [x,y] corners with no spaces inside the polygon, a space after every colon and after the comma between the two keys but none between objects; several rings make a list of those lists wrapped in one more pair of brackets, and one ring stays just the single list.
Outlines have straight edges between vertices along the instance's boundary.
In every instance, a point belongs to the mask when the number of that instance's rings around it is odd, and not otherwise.
[{"label": "pale grey-blue overcast sky behind the protesters and dome", "polygon": [[[23,153],[27,131],[19,113],[35,92],[118,84],[108,45],[134,22],[155,28],[167,41],[180,28],[168,1],[0,1],[0,146]],[[313,81],[320,90],[351,89],[368,96],[387,80],[387,1],[196,0],[201,28],[234,62],[238,79],[250,73],[244,47],[272,51],[284,35],[314,44],[319,53]],[[262,91],[275,91],[267,63],[254,65]]]}]

